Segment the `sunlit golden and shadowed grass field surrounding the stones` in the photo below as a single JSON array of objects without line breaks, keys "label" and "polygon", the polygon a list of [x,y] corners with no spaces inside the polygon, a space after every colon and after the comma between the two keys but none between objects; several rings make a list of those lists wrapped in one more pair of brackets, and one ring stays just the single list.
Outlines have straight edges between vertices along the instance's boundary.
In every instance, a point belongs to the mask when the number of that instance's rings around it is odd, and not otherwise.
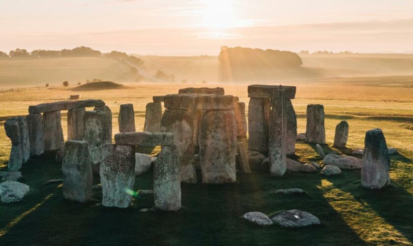
[{"label": "sunlit golden and shadowed grass field surrounding the stones", "polygon": [[[324,104],[326,153],[363,148],[366,130],[380,127],[387,146],[399,154],[391,156],[392,185],[382,190],[366,190],[360,185],[360,171],[344,170],[337,177],[288,173],[282,178],[261,171],[237,173],[235,184],[182,184],[183,209],[177,213],[139,213],[153,206],[153,196],[134,198],[131,208],[108,209],[93,203],[64,200],[61,186],[42,185],[61,178],[61,166],[53,153],[33,158],[24,165],[21,182],[30,185],[30,194],[15,204],[0,204],[1,245],[377,245],[413,244],[413,88],[410,77],[377,77],[384,81],[372,86],[374,78],[343,81],[330,79],[290,83],[297,85],[293,100],[298,132],[305,131],[306,105]],[[391,82],[389,82],[391,81]],[[347,85],[352,82],[351,85]],[[369,82],[369,83],[368,83]],[[402,86],[400,86],[402,84]],[[142,130],[145,105],[152,95],[176,93],[192,84],[128,85],[127,89],[84,91],[82,98],[100,98],[112,109],[113,133],[118,131],[118,111],[122,103],[133,103],[137,130]],[[200,85],[195,85],[199,87]],[[205,86],[205,85],[204,85]],[[246,85],[222,86],[226,94],[248,103]],[[65,100],[72,88],[3,92],[0,118],[27,114],[29,105]],[[66,113],[62,112],[66,134]],[[332,147],[335,125],[350,125],[348,148]],[[0,168],[6,169],[10,141],[0,122]],[[299,142],[295,159],[321,161],[315,146]],[[141,150],[150,152],[150,150]],[[154,153],[152,153],[154,154]],[[0,171],[2,171],[0,170]],[[136,178],[135,189],[151,189],[152,173]],[[95,184],[99,180],[94,181]],[[303,188],[303,196],[271,194],[279,188]],[[94,198],[100,199],[98,191]],[[277,226],[257,227],[241,218],[246,212],[299,209],[316,215],[322,225],[303,229]]]}]

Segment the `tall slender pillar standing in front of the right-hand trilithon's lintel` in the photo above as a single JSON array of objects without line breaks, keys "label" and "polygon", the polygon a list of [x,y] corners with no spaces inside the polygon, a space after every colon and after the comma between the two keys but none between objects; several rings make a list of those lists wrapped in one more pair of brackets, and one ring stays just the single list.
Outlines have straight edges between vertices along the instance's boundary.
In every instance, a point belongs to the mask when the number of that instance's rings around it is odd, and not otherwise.
[{"label": "tall slender pillar standing in front of the right-hand trilithon's lintel", "polygon": [[287,100],[284,89],[274,91],[271,106],[268,140],[269,173],[272,176],[283,176],[287,170]]}]

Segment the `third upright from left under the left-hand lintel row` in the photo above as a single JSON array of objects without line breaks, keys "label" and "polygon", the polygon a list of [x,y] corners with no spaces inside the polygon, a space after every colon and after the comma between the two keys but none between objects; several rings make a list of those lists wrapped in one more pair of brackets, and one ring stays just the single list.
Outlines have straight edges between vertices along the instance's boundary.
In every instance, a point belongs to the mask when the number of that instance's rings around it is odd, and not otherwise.
[{"label": "third upright from left under the left-hand lintel row", "polygon": [[75,108],[67,111],[67,141],[83,139],[83,116],[85,111],[85,108]]}]

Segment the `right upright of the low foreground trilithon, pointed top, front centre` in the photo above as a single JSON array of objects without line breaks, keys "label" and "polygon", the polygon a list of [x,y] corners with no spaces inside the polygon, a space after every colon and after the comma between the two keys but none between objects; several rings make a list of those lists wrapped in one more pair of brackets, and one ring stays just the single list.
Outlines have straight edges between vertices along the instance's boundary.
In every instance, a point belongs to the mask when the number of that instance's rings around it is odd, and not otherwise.
[{"label": "right upright of the low foreground trilithon, pointed top, front centre", "polygon": [[162,147],[153,171],[155,207],[177,211],[181,208],[180,165],[177,147]]}]

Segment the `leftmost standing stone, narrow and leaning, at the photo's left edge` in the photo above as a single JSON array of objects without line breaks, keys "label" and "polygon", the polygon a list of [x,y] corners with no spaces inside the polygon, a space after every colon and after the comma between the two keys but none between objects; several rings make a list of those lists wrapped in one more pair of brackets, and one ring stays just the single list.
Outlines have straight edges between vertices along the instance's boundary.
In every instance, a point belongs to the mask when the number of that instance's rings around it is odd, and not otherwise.
[{"label": "leftmost standing stone, narrow and leaning, at the photo's left edge", "polygon": [[8,162],[9,171],[18,171],[22,167],[22,144],[20,143],[19,123],[14,120],[7,120],[4,123],[4,130],[11,140],[11,151]]}]

